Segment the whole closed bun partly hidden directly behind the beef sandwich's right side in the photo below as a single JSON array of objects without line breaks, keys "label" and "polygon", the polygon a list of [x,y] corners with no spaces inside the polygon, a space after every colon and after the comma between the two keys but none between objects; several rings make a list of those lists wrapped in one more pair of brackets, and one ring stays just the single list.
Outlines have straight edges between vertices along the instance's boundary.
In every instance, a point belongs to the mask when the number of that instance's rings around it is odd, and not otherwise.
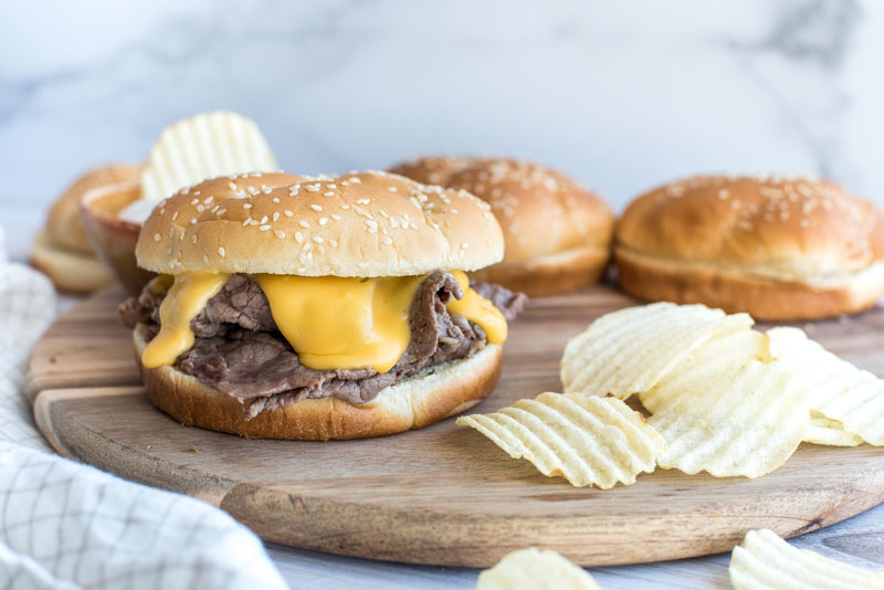
[{"label": "whole closed bun partly hidden directly behind the beef sandwich's right side", "polygon": [[529,296],[567,293],[596,283],[610,256],[614,218],[593,192],[526,161],[428,157],[392,172],[419,182],[464,189],[491,204],[506,243],[503,262],[473,276]]}]

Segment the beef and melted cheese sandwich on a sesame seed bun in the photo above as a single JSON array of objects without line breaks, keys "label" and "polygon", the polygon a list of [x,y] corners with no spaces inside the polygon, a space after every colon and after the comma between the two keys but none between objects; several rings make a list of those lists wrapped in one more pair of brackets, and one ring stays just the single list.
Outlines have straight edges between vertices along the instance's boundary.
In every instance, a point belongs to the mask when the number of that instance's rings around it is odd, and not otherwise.
[{"label": "beef and melted cheese sandwich on a sesame seed bun", "polygon": [[525,296],[464,272],[503,256],[486,203],[385,172],[221,177],[145,222],[160,273],[123,304],[150,400],[243,436],[394,434],[491,393]]}]

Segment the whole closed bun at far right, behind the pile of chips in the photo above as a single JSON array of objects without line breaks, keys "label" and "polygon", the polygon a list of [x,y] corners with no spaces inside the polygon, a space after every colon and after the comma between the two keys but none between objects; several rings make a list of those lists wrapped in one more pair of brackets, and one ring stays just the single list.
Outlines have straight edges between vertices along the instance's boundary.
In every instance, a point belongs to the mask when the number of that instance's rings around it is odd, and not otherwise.
[{"label": "whole closed bun at far right, behind the pile of chips", "polygon": [[635,199],[623,289],[766,320],[856,313],[884,293],[884,213],[825,180],[698,176]]}]

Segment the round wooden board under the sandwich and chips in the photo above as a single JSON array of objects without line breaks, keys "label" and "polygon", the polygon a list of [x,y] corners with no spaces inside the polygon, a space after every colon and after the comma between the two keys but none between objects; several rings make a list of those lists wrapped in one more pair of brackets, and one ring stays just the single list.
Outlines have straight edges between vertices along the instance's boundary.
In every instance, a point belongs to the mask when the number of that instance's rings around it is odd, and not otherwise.
[{"label": "round wooden board under the sandwich and chips", "polygon": [[[63,455],[220,506],[266,540],[343,555],[487,567],[511,550],[556,549],[583,566],[729,550],[745,533],[824,527],[884,501],[884,449],[802,445],[758,480],[657,470],[635,485],[576,488],[513,461],[446,420],[348,442],[244,440],[181,426],[139,384],[120,291],[62,316],[31,359],[38,425]],[[532,302],[507,341],[495,392],[476,411],[560,389],[565,341],[634,302],[608,287]],[[806,326],[807,327],[807,326]],[[809,325],[860,367],[884,373],[884,309]]]}]

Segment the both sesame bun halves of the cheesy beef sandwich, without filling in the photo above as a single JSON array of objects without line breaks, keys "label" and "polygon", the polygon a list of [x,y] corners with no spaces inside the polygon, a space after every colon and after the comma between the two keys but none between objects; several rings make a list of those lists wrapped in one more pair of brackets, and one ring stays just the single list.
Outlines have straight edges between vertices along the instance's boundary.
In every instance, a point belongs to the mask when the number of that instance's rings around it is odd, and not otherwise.
[{"label": "both sesame bun halves of the cheesy beef sandwich, without filling", "polygon": [[[499,261],[503,236],[480,199],[396,175],[250,173],[208,180],[158,203],[136,253],[140,266],[171,275],[404,276]],[[149,330],[138,324],[134,341],[154,404],[183,424],[249,438],[362,439],[423,428],[487,397],[503,355],[502,345],[487,344],[365,404],[306,399],[246,419],[241,400],[175,366],[145,367]]]}]

